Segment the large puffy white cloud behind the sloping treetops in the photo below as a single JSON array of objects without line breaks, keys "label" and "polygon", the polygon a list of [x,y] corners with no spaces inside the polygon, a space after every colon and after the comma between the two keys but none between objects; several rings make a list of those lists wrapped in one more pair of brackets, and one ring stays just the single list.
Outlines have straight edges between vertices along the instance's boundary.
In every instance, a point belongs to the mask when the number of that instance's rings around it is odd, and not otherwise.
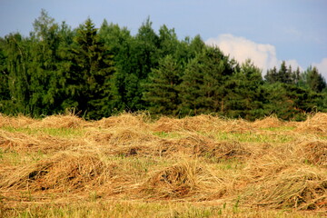
[{"label": "large puffy white cloud behind the sloping treetops", "polygon": [[[263,74],[267,69],[271,69],[273,66],[278,68],[282,64],[282,61],[277,58],[276,48],[273,45],[257,44],[244,37],[219,35],[217,38],[209,38],[205,44],[218,46],[224,54],[229,54],[239,63],[250,58],[253,64],[263,69]],[[288,60],[286,64],[291,65],[292,69],[299,66],[302,70],[296,60]]]}]

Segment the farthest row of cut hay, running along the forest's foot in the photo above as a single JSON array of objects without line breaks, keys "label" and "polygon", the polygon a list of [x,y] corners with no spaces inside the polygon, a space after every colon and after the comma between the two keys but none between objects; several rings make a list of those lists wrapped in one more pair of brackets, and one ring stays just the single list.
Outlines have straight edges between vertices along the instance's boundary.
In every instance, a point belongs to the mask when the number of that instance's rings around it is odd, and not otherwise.
[{"label": "farthest row of cut hay, running along the forest's foot", "polygon": [[[289,123],[282,122],[274,116],[265,117],[254,122],[246,122],[242,119],[228,120],[212,115],[198,115],[174,119],[161,117],[154,123],[149,122],[144,114],[120,114],[103,118],[96,122],[86,122],[74,115],[51,115],[41,120],[31,119],[26,116],[10,117],[0,114],[0,127],[31,127],[31,128],[78,128],[93,126],[96,128],[126,127],[132,126],[139,129],[151,129],[154,132],[251,132],[255,129],[280,127]],[[292,124],[296,125],[296,124]],[[327,114],[318,113],[309,117],[305,122],[297,124],[299,131],[327,132]]]}]

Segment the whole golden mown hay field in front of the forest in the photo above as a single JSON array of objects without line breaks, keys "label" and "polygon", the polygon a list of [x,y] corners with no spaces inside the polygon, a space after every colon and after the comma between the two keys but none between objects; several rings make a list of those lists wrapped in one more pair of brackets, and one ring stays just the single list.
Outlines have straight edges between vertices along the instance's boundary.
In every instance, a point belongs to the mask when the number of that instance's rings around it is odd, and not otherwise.
[{"label": "whole golden mown hay field in front of the forest", "polygon": [[325,217],[327,114],[302,123],[0,115],[0,217]]}]

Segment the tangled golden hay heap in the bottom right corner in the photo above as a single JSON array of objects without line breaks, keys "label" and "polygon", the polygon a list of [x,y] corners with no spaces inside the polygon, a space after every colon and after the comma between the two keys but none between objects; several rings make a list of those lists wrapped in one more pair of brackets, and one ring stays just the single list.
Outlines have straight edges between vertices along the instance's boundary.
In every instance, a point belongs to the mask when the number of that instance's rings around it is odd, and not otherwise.
[{"label": "tangled golden hay heap in the bottom right corner", "polygon": [[245,201],[275,209],[315,210],[327,208],[327,173],[309,166],[294,165],[253,183]]}]

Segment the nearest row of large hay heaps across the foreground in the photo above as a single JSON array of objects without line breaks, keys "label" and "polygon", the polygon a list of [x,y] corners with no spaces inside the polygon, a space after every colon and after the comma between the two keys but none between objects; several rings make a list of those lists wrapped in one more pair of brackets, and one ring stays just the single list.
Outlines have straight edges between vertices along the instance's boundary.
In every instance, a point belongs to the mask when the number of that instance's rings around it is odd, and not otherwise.
[{"label": "nearest row of large hay heaps across the foreground", "polygon": [[[255,162],[249,164],[238,178],[187,159],[148,173],[144,182],[133,181],[132,178],[134,185],[129,181],[127,186],[122,186],[122,181],[114,181],[114,177],[124,177],[120,175],[124,172],[116,163],[104,163],[96,154],[64,153],[3,173],[0,189],[54,192],[69,189],[82,192],[87,188],[94,187],[93,190],[96,190],[104,186],[107,189],[104,193],[114,193],[114,187],[122,187],[127,194],[141,192],[142,197],[151,199],[189,198],[196,201],[218,199],[248,190],[244,199],[252,204],[302,209],[325,206],[326,172],[269,158],[253,160]],[[303,168],[307,173],[316,172],[318,176],[312,177],[309,173],[301,177],[304,171],[292,173],[296,171],[295,167]],[[292,200],[298,195],[298,199]]]}]

